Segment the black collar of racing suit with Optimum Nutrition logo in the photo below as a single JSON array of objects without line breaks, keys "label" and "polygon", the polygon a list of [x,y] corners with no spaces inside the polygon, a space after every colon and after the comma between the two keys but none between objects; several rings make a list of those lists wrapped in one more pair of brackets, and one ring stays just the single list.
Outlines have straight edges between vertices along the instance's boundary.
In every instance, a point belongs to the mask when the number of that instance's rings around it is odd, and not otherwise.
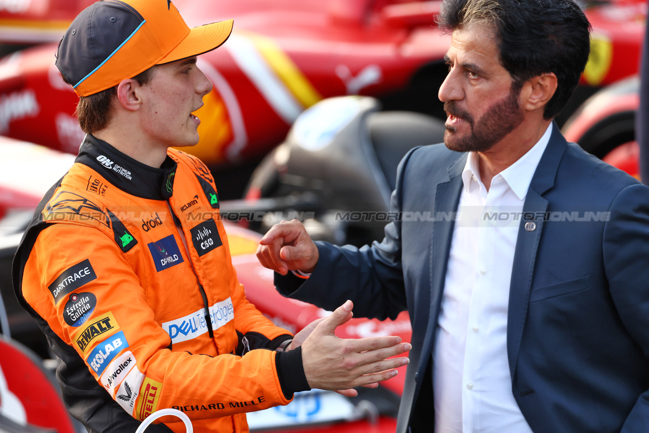
[{"label": "black collar of racing suit with Optimum Nutrition logo", "polygon": [[91,134],[86,134],[75,162],[87,165],[125,193],[150,200],[171,197],[178,167],[169,155],[159,169],[149,167]]}]

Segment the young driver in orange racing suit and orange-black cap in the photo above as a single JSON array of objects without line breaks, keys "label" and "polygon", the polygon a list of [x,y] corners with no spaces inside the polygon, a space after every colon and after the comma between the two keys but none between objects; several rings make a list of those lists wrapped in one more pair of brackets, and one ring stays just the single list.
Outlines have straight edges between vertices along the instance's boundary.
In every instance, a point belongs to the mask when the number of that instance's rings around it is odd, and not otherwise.
[{"label": "young driver in orange racing suit and orange-black cap", "polygon": [[[212,83],[196,56],[231,30],[189,29],[169,0],[105,0],[58,47],[88,134],[25,233],[14,288],[90,432],[134,432],[162,408],[182,410],[196,432],[245,432],[244,412],[309,388],[354,395],[408,362],[386,359],[410,349],[398,337],[334,335],[350,302],[293,338],[246,300],[212,176],[171,148],[198,142],[192,113]],[[162,421],[151,431],[184,432]]]}]

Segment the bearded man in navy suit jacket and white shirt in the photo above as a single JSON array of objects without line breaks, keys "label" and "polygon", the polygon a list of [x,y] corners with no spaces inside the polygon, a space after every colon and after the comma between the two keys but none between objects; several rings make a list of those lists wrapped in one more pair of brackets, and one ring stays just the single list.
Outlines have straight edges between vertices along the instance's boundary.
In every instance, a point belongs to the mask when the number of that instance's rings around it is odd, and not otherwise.
[{"label": "bearded man in navy suit jacket and white shirt", "polygon": [[445,0],[439,23],[445,145],[401,161],[385,239],[282,222],[260,261],[325,309],[408,310],[398,433],[649,432],[649,188],[553,122],[587,19],[572,0]]}]

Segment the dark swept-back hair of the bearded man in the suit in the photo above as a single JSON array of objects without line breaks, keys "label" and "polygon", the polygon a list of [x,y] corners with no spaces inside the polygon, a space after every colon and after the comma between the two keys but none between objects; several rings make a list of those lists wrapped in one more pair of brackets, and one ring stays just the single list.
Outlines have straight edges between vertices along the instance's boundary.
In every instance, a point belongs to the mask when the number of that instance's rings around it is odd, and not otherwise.
[{"label": "dark swept-back hair of the bearded man in the suit", "polygon": [[557,90],[543,111],[548,120],[572,96],[591,51],[591,25],[573,0],[444,0],[437,23],[449,32],[491,26],[513,90],[533,76],[554,73]]}]

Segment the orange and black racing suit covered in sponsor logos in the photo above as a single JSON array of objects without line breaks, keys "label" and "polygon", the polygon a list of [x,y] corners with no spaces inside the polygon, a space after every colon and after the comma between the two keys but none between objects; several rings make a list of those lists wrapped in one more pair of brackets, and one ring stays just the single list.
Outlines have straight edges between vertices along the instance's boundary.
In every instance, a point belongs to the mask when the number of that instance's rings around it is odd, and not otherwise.
[{"label": "orange and black racing suit covered in sponsor logos", "polygon": [[[177,408],[196,432],[242,432],[244,412],[308,389],[300,350],[273,350],[291,334],[245,298],[209,170],[178,150],[154,169],[87,135],[23,237],[14,288],[90,431]],[[163,421],[151,431],[184,432]]]}]

